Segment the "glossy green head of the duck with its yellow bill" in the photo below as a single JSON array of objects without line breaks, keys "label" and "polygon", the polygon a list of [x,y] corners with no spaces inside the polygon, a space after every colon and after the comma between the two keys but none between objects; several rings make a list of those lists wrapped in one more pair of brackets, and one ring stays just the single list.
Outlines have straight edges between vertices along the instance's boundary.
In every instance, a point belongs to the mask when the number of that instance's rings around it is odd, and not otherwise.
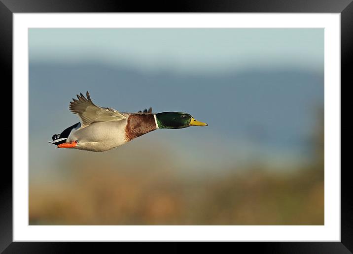
[{"label": "glossy green head of the duck with its yellow bill", "polygon": [[207,126],[207,124],[195,120],[190,114],[181,112],[162,112],[156,114],[159,128],[180,129],[190,126]]}]

